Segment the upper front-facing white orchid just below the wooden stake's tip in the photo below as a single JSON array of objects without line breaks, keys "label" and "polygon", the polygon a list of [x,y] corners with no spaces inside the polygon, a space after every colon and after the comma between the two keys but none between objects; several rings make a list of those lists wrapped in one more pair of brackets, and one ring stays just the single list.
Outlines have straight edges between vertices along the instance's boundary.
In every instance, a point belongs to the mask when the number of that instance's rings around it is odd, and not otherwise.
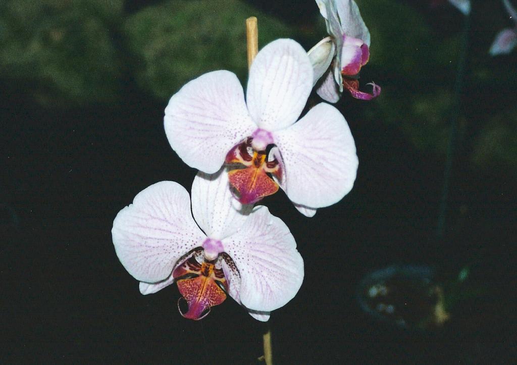
[{"label": "upper front-facing white orchid just below the wooden stake's tip", "polygon": [[307,53],[294,40],[279,39],[253,61],[246,101],[234,73],[205,73],[173,95],[165,133],[192,168],[210,174],[226,162],[240,203],[253,204],[280,186],[312,217],[352,189],[358,161],[336,108],[317,104],[296,122],[311,89]]}]

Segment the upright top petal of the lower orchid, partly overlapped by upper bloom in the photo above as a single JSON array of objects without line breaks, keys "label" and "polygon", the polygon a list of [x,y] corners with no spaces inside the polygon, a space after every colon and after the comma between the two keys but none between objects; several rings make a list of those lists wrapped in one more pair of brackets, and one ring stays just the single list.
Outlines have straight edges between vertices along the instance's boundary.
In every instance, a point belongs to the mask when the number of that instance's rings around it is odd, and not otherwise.
[{"label": "upright top petal of the lower orchid, partly overlapped by upper bloom", "polygon": [[192,214],[208,237],[220,240],[230,236],[252,209],[252,205],[242,205],[233,197],[225,168],[211,175],[200,171],[194,177]]}]

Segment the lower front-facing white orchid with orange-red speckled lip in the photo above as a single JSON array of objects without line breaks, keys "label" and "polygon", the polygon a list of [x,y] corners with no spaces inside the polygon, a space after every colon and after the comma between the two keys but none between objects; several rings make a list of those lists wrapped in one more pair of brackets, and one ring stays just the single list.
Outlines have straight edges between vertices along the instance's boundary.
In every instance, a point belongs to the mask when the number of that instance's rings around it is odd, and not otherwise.
[{"label": "lower front-facing white orchid with orange-red speckled lip", "polygon": [[267,321],[298,292],[303,260],[284,222],[264,206],[239,206],[227,177],[222,171],[196,175],[192,213],[179,184],[161,181],[144,189],[113,222],[115,251],[141,281],[142,294],[176,282],[188,305],[182,311],[178,300],[184,317],[203,318],[229,294]]}]

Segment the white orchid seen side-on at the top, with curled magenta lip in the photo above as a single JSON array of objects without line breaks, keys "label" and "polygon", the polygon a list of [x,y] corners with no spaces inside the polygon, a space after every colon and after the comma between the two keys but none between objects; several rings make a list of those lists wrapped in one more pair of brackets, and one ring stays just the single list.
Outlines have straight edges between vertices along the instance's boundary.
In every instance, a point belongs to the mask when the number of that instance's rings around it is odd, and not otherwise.
[{"label": "white orchid seen side-on at the top, with curled magenta lip", "polygon": [[[356,99],[371,100],[381,94],[372,83],[372,94],[359,91],[359,71],[370,58],[370,32],[354,0],[316,0],[330,37],[308,52],[314,67],[313,85],[322,78],[316,93],[328,102],[341,97],[343,87]],[[329,68],[330,66],[330,68]]]}]

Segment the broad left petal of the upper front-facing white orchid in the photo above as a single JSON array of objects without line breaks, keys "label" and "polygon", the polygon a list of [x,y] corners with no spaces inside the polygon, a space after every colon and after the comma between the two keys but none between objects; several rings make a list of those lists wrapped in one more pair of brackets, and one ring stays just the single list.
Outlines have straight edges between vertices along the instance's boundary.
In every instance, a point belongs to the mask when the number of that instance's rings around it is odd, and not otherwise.
[{"label": "broad left petal of the upper front-facing white orchid", "polygon": [[183,86],[165,108],[165,134],[183,161],[194,169],[217,172],[230,149],[256,125],[236,75],[214,71]]}]

